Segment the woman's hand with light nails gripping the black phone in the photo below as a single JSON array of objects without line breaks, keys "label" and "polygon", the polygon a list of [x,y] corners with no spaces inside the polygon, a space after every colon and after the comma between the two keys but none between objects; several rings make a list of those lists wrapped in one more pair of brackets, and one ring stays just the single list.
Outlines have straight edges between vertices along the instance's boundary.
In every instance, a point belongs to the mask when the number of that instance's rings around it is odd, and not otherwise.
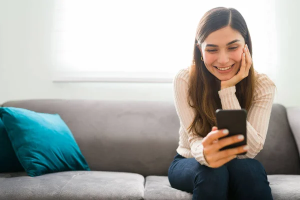
[{"label": "woman's hand with light nails gripping the black phone", "polygon": [[[216,126],[213,126],[211,131],[202,140],[203,155],[206,159],[206,162],[212,168],[220,167],[226,162],[235,158],[237,154],[247,151],[247,145],[219,150],[224,146],[239,142],[244,139],[243,135],[241,135],[242,137],[240,138],[238,138],[239,135],[233,135],[219,139],[220,137],[226,136],[228,133],[229,132],[226,129],[218,130]],[[246,149],[244,149],[244,147],[246,147]]]}]

